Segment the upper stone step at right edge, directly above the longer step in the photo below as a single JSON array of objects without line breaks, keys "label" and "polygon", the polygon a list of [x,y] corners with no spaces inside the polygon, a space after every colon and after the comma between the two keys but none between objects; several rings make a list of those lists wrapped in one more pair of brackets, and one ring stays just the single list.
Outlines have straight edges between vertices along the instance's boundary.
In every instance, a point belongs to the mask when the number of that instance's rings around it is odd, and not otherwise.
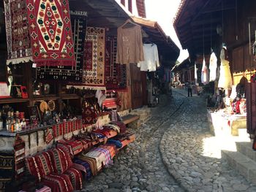
[{"label": "upper stone step at right edge, directly above the longer step", "polygon": [[256,151],[252,150],[252,142],[236,142],[236,149],[256,162]]}]

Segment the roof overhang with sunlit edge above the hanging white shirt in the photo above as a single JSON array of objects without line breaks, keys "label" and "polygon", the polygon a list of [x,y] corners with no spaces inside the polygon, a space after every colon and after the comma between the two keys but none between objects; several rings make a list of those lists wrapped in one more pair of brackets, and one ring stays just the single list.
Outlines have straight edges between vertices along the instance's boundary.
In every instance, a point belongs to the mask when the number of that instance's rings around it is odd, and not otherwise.
[{"label": "roof overhang with sunlit edge above the hanging white shirt", "polygon": [[162,59],[162,64],[174,65],[180,50],[173,40],[170,39],[169,36],[166,36],[161,26],[159,26],[156,21],[145,18],[132,17],[132,20],[135,21],[135,23],[138,23],[142,27],[143,31],[148,35],[148,37],[144,37],[144,39],[154,42],[157,45],[159,54],[164,57]]}]

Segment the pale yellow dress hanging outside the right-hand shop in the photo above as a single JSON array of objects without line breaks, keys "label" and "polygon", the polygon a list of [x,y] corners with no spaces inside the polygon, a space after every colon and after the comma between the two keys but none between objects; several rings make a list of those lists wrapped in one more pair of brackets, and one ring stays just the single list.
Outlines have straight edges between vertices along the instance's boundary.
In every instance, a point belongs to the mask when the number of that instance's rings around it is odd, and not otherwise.
[{"label": "pale yellow dress hanging outside the right-hand shop", "polygon": [[218,88],[232,88],[232,77],[230,73],[229,61],[225,59],[225,48],[222,48],[220,53],[221,64],[219,68],[219,83]]}]

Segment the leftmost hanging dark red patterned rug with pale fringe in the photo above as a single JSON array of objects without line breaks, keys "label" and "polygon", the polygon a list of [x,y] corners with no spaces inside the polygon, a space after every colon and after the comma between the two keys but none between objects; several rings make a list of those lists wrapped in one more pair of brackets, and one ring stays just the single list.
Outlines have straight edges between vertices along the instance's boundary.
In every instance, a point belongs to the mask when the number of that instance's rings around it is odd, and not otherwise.
[{"label": "leftmost hanging dark red patterned rug with pale fringe", "polygon": [[7,31],[7,64],[32,61],[26,1],[4,1]]}]

